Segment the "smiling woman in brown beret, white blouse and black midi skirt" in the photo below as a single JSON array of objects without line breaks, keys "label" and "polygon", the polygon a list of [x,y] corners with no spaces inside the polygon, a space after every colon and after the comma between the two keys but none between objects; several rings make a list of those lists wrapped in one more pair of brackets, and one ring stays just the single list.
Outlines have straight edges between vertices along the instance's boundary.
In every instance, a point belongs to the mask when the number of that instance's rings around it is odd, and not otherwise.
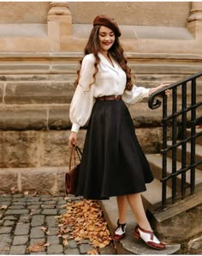
[{"label": "smiling woman in brown beret, white blouse and black midi skirt", "polygon": [[[165,246],[153,234],[146,218],[140,192],[153,180],[146,156],[134,133],[134,123],[125,103],[134,104],[157,88],[138,88],[119,43],[121,31],[116,21],[98,15],[85,48],[85,57],[76,80],[70,107],[73,123],[69,146],[77,144],[80,126],[89,119],[77,194],[87,199],[116,196],[119,212],[114,239],[126,232],[127,204],[134,211],[138,226],[134,237],[156,249]],[[169,91],[166,91],[169,94]]]}]

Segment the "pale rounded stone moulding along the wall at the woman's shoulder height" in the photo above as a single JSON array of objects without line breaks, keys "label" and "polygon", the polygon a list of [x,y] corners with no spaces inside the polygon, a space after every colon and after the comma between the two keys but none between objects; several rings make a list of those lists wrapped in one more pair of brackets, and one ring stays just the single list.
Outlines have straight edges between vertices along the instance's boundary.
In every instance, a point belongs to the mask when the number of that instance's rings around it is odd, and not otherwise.
[{"label": "pale rounded stone moulding along the wall at the woman's shoulder height", "polygon": [[[42,55],[43,56],[43,55]],[[80,55],[80,57],[82,54]],[[39,58],[39,57],[38,57]],[[78,56],[71,58],[62,58],[57,56],[53,58],[0,58],[0,75],[14,75],[14,74],[76,74],[79,69]],[[200,60],[201,62],[201,60]],[[198,73],[201,70],[201,64],[196,60],[176,60],[176,63],[170,59],[128,59],[128,66],[131,68],[134,74],[172,74],[172,75],[184,75],[189,76]]]}]

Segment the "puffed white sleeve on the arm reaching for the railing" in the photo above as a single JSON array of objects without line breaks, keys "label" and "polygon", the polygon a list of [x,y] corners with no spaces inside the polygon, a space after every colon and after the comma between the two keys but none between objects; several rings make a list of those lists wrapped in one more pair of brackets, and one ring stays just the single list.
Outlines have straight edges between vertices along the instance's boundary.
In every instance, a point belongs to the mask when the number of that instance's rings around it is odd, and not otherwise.
[{"label": "puffed white sleeve on the arm reaching for the railing", "polygon": [[122,100],[128,104],[135,104],[149,96],[150,88],[137,87],[134,85],[132,90],[125,90],[122,95]]}]

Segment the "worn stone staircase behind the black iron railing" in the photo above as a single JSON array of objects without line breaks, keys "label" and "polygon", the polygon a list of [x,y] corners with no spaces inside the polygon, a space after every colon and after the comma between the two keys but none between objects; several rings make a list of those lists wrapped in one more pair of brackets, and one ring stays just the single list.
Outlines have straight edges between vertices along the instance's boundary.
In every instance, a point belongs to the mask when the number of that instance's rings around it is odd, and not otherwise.
[{"label": "worn stone staircase behind the black iron railing", "polygon": [[[197,129],[197,132],[202,128]],[[187,136],[190,130],[187,129]],[[170,142],[168,142],[170,144]],[[170,155],[169,155],[170,156]],[[119,254],[189,254],[196,253],[196,247],[201,247],[201,205],[202,205],[202,165],[196,168],[196,188],[193,196],[188,196],[190,187],[190,174],[187,172],[187,198],[170,204],[172,191],[171,184],[168,182],[166,208],[161,208],[162,184],[160,182],[162,172],[162,156],[160,154],[146,154],[147,160],[151,165],[154,180],[146,185],[147,191],[142,193],[142,199],[146,208],[147,216],[151,226],[158,237],[166,244],[163,252],[157,252],[146,247],[143,241],[134,240],[133,232],[135,219],[132,210],[127,211],[127,235],[122,241],[116,242],[116,251]],[[202,159],[202,137],[197,138],[196,158]],[[181,148],[177,154],[177,168],[181,168]],[[190,149],[187,146],[187,162],[190,161]],[[168,173],[171,173],[171,158],[168,157]],[[177,192],[181,192],[181,177],[177,178]],[[178,197],[179,198],[179,197]],[[104,216],[109,223],[109,228],[113,234],[116,228],[118,210],[116,198],[109,201],[101,201]],[[190,218],[190,219],[189,219]],[[198,254],[198,253],[197,253]]]}]

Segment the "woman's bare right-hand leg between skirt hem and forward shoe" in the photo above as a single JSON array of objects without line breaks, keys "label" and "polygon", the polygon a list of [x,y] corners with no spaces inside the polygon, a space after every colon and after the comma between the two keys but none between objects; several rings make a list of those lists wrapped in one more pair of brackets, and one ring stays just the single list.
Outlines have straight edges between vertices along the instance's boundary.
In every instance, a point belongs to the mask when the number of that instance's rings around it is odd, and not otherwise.
[{"label": "woman's bare right-hand leg between skirt hem and forward shoe", "polygon": [[136,220],[140,228],[150,231],[151,225],[147,220],[146,211],[142,204],[142,198],[140,193],[126,195],[128,199],[128,204],[134,212]]}]

